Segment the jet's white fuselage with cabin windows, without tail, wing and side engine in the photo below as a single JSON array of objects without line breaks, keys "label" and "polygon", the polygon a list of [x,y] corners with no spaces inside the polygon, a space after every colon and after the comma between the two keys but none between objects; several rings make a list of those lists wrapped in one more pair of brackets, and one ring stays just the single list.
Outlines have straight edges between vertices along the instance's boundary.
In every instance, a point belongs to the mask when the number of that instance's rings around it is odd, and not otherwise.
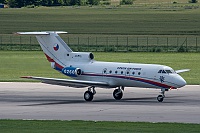
[{"label": "jet's white fuselage with cabin windows, without tail, wing and side engine", "polygon": [[[175,89],[186,84],[186,81],[172,68],[163,65],[94,60],[90,62],[70,61],[66,65],[82,70],[81,75],[72,78],[106,82],[110,88],[124,86]],[[172,73],[158,73],[159,70],[170,70]]]}]

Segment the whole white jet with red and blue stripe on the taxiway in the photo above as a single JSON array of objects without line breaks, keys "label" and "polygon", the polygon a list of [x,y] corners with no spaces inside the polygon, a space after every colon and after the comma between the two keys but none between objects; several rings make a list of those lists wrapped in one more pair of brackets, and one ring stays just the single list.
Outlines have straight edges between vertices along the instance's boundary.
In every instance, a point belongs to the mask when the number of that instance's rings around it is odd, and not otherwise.
[{"label": "whole white jet with red and blue stripe on the taxiway", "polygon": [[72,79],[57,79],[35,76],[21,78],[40,80],[46,84],[69,87],[88,87],[85,101],[92,101],[95,87],[116,88],[113,97],[120,100],[125,87],[160,89],[158,102],[163,102],[165,91],[186,85],[179,73],[190,69],[173,70],[158,64],[102,62],[94,60],[90,52],[73,52],[58,34],[64,31],[17,32],[18,35],[35,35],[51,67]]}]

